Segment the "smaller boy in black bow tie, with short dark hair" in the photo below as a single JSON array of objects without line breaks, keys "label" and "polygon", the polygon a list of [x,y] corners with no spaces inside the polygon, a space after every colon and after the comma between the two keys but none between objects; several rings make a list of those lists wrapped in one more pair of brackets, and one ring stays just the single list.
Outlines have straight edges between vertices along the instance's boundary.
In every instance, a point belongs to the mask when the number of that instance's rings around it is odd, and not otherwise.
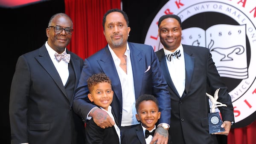
[{"label": "smaller boy in black bow tie, with short dark hair", "polygon": [[122,133],[122,144],[149,144],[160,118],[158,101],[153,95],[144,94],[136,100],[136,118],[141,125]]}]

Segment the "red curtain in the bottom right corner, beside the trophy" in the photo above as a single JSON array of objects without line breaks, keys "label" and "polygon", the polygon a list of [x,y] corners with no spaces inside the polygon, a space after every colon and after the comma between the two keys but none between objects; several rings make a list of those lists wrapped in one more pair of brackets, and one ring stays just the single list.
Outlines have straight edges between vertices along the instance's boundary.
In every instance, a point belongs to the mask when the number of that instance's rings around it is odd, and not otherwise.
[{"label": "red curtain in the bottom right corner, beside the trophy", "polygon": [[256,144],[256,121],[247,127],[231,129],[227,144]]}]

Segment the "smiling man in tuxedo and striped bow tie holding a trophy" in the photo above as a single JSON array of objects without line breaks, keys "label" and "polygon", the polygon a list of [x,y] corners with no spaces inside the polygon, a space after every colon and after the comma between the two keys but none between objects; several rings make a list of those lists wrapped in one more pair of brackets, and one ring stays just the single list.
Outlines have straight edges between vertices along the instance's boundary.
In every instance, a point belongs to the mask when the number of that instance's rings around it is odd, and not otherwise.
[{"label": "smiling man in tuxedo and striped bow tie holding a trophy", "polygon": [[[181,20],[177,15],[160,17],[158,28],[163,49],[156,54],[171,96],[171,143],[218,144],[216,135],[229,134],[234,113],[209,49],[181,44]],[[221,115],[213,110],[215,107]]]}]

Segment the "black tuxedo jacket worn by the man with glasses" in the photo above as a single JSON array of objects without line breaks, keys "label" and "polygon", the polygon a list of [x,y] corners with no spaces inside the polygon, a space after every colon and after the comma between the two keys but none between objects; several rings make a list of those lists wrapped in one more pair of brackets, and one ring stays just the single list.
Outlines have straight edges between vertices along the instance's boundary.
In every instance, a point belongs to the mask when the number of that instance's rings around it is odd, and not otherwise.
[{"label": "black tuxedo jacket worn by the man with glasses", "polygon": [[[67,53],[71,55],[76,88],[83,60]],[[10,92],[12,144],[84,144],[84,123],[73,112],[72,101],[45,45],[21,55]]]}]

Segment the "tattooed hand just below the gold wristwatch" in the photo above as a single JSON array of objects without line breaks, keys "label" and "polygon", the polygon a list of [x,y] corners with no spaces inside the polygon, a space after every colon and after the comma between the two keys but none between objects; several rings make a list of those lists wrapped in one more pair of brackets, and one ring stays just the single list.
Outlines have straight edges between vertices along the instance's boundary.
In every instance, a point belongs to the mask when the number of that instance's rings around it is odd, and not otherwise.
[{"label": "tattooed hand just below the gold wristwatch", "polygon": [[167,144],[169,138],[168,130],[163,129],[163,127],[157,127],[154,133],[154,137],[150,144]]}]

